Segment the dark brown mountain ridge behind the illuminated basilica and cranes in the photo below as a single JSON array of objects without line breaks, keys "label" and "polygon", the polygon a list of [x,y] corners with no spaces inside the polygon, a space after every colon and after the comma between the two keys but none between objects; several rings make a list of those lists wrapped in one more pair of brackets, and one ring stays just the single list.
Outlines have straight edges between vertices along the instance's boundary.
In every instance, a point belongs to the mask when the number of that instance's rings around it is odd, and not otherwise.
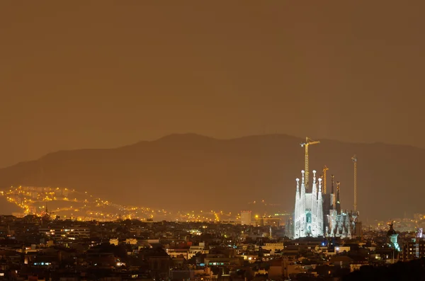
[{"label": "dark brown mountain ridge behind the illuminated basilica and cranes", "polygon": [[[172,134],[117,149],[58,151],[0,169],[0,187],[62,186],[113,202],[166,210],[246,209],[266,200],[292,210],[295,178],[304,167],[302,139],[283,134],[212,139]],[[353,205],[353,163],[358,156],[358,209],[366,219],[423,212],[425,150],[388,144],[321,139],[310,147],[310,171],[324,164],[341,182],[341,205]]]}]

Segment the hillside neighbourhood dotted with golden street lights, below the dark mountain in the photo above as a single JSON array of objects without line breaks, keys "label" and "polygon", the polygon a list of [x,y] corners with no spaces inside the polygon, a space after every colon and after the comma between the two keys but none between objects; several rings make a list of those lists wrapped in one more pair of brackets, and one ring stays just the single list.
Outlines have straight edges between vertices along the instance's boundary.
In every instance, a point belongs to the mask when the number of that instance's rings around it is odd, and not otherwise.
[{"label": "hillside neighbourhood dotted with golden street lights, below the dark mountain", "polygon": [[36,214],[43,216],[47,212],[51,217],[77,219],[79,221],[116,219],[140,220],[175,220],[180,222],[220,222],[236,221],[239,214],[222,211],[168,212],[164,209],[154,210],[149,207],[118,205],[108,200],[68,188],[11,187],[0,191],[10,203],[22,210],[22,215]]}]

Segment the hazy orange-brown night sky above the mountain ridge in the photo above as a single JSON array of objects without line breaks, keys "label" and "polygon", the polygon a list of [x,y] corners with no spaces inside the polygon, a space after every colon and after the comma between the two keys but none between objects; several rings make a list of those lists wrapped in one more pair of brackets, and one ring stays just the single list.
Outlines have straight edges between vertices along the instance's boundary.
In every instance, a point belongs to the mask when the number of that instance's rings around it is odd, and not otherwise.
[{"label": "hazy orange-brown night sky above the mountain ridge", "polygon": [[166,134],[425,148],[424,1],[1,1],[0,167]]}]

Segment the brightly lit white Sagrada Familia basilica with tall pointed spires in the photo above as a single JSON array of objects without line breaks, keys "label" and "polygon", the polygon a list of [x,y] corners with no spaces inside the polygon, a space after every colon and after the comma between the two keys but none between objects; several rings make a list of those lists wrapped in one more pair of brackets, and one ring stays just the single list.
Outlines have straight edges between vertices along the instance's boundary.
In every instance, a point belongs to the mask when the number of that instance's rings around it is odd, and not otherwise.
[{"label": "brightly lit white Sagrada Familia basilica with tall pointed spires", "polygon": [[[331,176],[331,193],[322,190],[322,178],[316,178],[313,171],[311,193],[305,185],[305,172],[296,179],[295,211],[292,222],[287,225],[287,235],[292,239],[302,237],[341,237],[351,239],[359,235],[361,223],[358,223],[358,212],[341,210],[339,200],[339,182],[334,190],[334,176]],[[360,228],[357,229],[356,228]]]}]

